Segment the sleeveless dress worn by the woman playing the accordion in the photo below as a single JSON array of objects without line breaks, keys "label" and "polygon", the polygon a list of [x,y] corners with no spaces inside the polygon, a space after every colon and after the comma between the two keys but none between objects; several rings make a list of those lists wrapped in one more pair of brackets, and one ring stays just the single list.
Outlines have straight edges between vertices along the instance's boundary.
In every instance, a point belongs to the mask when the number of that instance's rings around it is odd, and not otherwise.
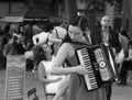
[{"label": "sleeveless dress worn by the woman playing the accordion", "polygon": [[[81,43],[72,43],[70,45],[75,51],[87,46],[86,44],[82,45]],[[70,63],[70,67],[79,65],[76,54],[72,58],[68,58],[68,62]],[[79,74],[70,74],[68,100],[107,100],[106,89],[101,87],[94,91],[87,91],[82,76]]]}]

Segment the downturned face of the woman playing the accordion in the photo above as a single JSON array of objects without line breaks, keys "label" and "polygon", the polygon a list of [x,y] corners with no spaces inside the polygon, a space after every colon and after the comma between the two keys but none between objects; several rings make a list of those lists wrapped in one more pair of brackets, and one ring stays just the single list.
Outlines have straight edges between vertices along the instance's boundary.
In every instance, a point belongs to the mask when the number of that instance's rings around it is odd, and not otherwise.
[{"label": "downturned face of the woman playing the accordion", "polygon": [[84,32],[78,26],[69,25],[69,27],[68,27],[68,34],[69,34],[70,38],[75,42],[82,38],[82,33]]}]

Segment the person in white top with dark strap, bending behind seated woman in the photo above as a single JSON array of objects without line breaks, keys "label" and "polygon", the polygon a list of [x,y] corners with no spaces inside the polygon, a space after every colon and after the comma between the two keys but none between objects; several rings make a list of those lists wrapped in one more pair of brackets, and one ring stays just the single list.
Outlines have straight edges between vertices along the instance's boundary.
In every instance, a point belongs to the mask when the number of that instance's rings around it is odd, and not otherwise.
[{"label": "person in white top with dark strap, bending behind seated woman", "polygon": [[53,23],[48,22],[45,24],[43,32],[33,36],[33,43],[34,45],[48,43],[56,55],[66,34],[66,29],[62,26],[54,27]]}]

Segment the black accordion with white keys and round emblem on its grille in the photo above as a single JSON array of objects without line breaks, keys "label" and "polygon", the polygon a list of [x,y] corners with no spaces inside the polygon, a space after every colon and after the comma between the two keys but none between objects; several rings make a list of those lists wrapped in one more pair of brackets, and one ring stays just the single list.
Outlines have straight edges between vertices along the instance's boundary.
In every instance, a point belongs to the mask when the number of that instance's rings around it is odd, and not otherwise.
[{"label": "black accordion with white keys and round emblem on its grille", "polygon": [[113,53],[109,46],[101,44],[77,48],[76,55],[79,64],[88,67],[88,75],[84,76],[88,91],[118,78]]}]

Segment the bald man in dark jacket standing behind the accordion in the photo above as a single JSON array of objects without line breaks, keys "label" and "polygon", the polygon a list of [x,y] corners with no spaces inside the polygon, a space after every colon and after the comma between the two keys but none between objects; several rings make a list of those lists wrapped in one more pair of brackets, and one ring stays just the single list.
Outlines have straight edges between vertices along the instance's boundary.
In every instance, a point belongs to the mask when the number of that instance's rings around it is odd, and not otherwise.
[{"label": "bald man in dark jacket standing behind the accordion", "polygon": [[[119,42],[118,33],[110,26],[110,18],[108,15],[102,16],[100,21],[100,27],[98,27],[92,35],[92,43],[100,44],[107,43],[112,47],[113,52],[118,54],[121,51],[121,44]],[[112,82],[106,85],[107,100],[111,99]]]}]

